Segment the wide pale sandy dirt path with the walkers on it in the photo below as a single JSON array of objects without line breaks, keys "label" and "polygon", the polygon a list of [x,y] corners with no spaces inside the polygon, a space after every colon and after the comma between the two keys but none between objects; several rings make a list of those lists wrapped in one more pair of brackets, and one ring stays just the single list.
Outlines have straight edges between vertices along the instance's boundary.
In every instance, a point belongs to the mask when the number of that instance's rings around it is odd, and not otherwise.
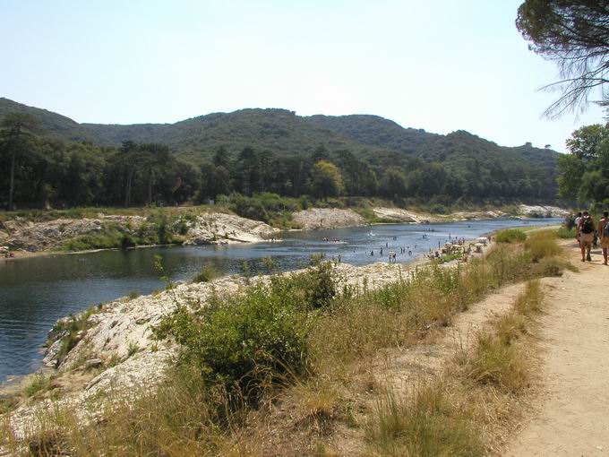
[{"label": "wide pale sandy dirt path with the walkers on it", "polygon": [[544,280],[543,391],[506,456],[609,455],[609,267],[600,250],[592,263],[567,252],[580,272]]}]

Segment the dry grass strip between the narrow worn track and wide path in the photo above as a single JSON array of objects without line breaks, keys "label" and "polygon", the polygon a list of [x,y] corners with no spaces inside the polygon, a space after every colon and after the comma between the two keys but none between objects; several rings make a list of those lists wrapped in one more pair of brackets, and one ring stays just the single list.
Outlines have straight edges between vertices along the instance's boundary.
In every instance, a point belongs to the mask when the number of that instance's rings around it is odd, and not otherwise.
[{"label": "dry grass strip between the narrow worn track and wide path", "polygon": [[422,378],[401,397],[385,391],[365,424],[371,454],[482,455],[497,452],[531,381],[529,335],[543,311],[539,280],[528,281],[509,313],[480,332],[473,349]]}]

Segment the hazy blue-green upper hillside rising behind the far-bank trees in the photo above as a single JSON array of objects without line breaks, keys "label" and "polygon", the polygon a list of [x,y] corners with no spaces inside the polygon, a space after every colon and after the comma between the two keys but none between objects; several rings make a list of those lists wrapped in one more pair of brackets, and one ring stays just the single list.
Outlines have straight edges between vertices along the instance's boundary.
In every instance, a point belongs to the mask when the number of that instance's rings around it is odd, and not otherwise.
[{"label": "hazy blue-green upper hillside rising behind the far-bank trees", "polygon": [[484,159],[482,155],[490,153],[486,159],[525,160],[531,165],[553,168],[557,157],[550,150],[498,146],[465,131],[441,135],[403,128],[381,116],[296,116],[287,109],[250,108],[197,116],[175,124],[78,124],[46,109],[0,98],[0,116],[10,112],[38,117],[43,130],[64,140],[89,140],[107,146],[119,146],[124,141],[160,142],[193,158],[206,156],[219,145],[235,153],[253,146],[279,155],[297,155],[313,151],[321,143],[330,151],[397,151],[440,162],[452,162],[455,155],[455,162],[463,156]]}]

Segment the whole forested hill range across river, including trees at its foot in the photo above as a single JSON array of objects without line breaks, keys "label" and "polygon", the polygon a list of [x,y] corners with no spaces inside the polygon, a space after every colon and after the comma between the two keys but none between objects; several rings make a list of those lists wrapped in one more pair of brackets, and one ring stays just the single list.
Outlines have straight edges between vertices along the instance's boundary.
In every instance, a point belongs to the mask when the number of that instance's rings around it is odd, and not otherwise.
[{"label": "whole forested hill range across river, including trees at its foot", "polygon": [[[0,99],[0,121],[12,113],[37,121],[15,156],[13,198],[23,204],[181,203],[233,192],[442,204],[556,198],[554,151],[502,147],[465,131],[430,134],[379,116],[252,108],[175,124],[99,125]],[[0,134],[1,204],[17,142],[6,128]]]}]

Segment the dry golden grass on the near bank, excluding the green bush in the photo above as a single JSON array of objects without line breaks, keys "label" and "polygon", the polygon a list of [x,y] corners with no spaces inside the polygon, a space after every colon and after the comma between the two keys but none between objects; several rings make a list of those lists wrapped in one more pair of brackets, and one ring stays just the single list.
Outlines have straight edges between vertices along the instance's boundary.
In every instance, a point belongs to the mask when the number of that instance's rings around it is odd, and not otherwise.
[{"label": "dry golden grass on the near bank, excluding the green bush", "polygon": [[[455,313],[489,291],[542,274],[545,270],[539,265],[552,260],[547,257],[552,250],[544,248],[546,254],[532,263],[530,249],[499,246],[485,259],[475,259],[459,269],[435,265],[408,280],[376,290],[347,290],[333,299],[317,313],[305,341],[308,356],[304,375],[270,386],[257,405],[262,410],[265,405],[281,403],[278,399],[282,397],[293,399],[286,403],[292,410],[283,410],[275,418],[256,415],[242,399],[227,396],[219,385],[202,383],[198,373],[176,370],[156,389],[128,392],[128,401],[110,395],[100,404],[105,413],[89,425],[83,425],[86,422],[73,411],[57,410],[38,421],[29,442],[44,442],[51,436],[47,441],[74,455],[251,456],[268,454],[262,451],[269,449],[268,442],[286,443],[290,434],[296,434],[296,428],[287,427],[285,420],[280,426],[284,435],[279,439],[278,434],[264,429],[265,423],[287,414],[298,418],[297,427],[323,433],[329,433],[332,421],[354,427],[353,419],[345,413],[345,392],[354,388],[354,373],[364,371],[362,367],[370,364],[379,349],[430,341],[434,330],[449,325]],[[395,392],[382,393],[364,427],[372,453],[484,453],[486,438],[476,434],[476,427],[500,420],[498,410],[509,410],[503,405],[509,405],[510,396],[528,385],[528,358],[520,350],[520,342],[541,309],[541,297],[539,283],[530,282],[513,312],[499,319],[493,332],[479,335],[476,349],[462,358],[459,369],[451,368],[452,380],[446,377],[437,383],[422,383],[407,398]],[[502,406],[480,405],[472,399],[494,399]],[[252,417],[257,425],[249,422]],[[313,446],[307,433],[303,432],[301,442],[308,440],[306,445]],[[18,450],[17,444],[10,445]],[[295,443],[294,449],[299,445]],[[315,449],[317,455],[333,454],[324,444]]]}]

